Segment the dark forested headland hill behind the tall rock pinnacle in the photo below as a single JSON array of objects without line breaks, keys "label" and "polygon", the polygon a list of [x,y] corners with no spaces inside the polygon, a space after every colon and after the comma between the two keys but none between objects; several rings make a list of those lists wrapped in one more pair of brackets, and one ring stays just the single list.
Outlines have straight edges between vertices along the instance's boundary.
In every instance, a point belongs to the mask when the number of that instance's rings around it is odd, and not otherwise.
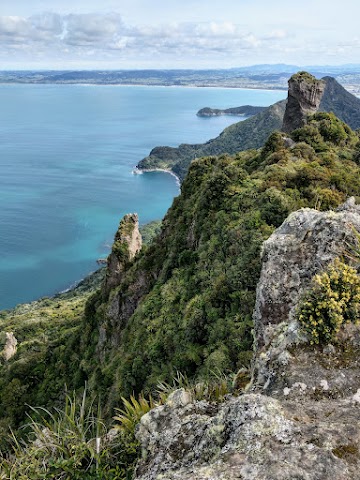
[{"label": "dark forested headland hill behind the tall rock pinnacle", "polygon": [[[349,93],[334,78],[326,83],[319,111],[333,112],[352,129],[360,128],[360,99]],[[281,130],[286,100],[275,103],[247,120],[227,127],[218,137],[204,144],[182,144],[177,148],[156,147],[138,164],[139,169],[169,169],[182,181],[195,158],[260,148],[275,130]]]}]

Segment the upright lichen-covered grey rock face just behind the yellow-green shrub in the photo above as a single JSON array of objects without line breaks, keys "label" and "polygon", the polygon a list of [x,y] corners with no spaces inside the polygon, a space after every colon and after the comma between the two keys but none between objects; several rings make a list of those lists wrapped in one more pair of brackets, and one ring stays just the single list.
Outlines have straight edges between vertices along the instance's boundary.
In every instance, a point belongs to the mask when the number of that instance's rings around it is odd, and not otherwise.
[{"label": "upright lichen-covered grey rock face just behind the yellow-green shrub", "polygon": [[294,320],[314,275],[356,243],[354,228],[360,231],[360,206],[349,199],[337,212],[304,208],[292,213],[264,242],[254,314],[259,346],[266,343],[268,324]]}]

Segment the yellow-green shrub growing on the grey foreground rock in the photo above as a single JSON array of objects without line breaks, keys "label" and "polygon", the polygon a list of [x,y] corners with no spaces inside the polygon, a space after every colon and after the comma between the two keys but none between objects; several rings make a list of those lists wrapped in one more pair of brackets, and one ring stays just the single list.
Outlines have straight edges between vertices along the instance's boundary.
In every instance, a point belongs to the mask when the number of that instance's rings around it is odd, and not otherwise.
[{"label": "yellow-green shrub growing on the grey foreground rock", "polygon": [[333,341],[345,323],[360,324],[360,277],[357,271],[336,259],[315,275],[305,295],[298,319],[312,344]]}]

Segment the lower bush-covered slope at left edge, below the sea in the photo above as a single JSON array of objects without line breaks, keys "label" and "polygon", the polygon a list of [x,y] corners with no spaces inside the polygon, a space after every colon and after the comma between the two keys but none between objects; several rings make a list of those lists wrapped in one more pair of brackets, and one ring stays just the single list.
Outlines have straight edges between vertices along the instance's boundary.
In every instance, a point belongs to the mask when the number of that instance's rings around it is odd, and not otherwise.
[{"label": "lower bush-covered slope at left edge, below the sea", "polygon": [[2,441],[9,426],[17,427],[25,420],[28,405],[62,403],[70,372],[78,383],[84,383],[83,378],[76,378],[74,343],[86,301],[100,287],[104,273],[104,269],[98,270],[69,292],[0,312],[0,350],[6,332],[12,332],[18,342],[11,359],[6,361],[0,355]]}]

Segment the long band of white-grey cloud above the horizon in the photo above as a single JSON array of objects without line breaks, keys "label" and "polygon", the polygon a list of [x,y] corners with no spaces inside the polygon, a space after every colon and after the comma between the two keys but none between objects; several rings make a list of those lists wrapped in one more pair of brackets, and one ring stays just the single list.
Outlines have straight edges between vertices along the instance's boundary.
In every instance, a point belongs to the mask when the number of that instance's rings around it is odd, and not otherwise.
[{"label": "long band of white-grey cloud above the horizon", "polygon": [[[0,59],[28,65],[35,57],[52,68],[74,62],[118,66],[236,66],[264,62],[326,63],[359,54],[357,37],[326,39],[312,27],[280,24],[254,28],[234,21],[126,24],[119,13],[38,13],[0,16]],[[186,61],[186,64],[184,62]],[[163,63],[161,63],[163,62]],[[36,65],[34,64],[34,68]],[[9,68],[9,67],[8,67]]]}]

